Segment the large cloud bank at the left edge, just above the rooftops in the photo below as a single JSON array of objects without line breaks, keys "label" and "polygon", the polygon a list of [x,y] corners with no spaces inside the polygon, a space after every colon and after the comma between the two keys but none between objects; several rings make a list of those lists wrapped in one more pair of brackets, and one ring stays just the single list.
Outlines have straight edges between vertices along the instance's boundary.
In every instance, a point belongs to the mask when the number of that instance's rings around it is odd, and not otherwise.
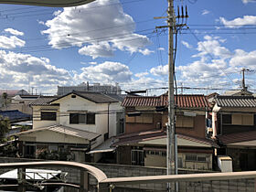
[{"label": "large cloud bank at the left edge, just above the rooftops", "polygon": [[72,81],[68,70],[56,68],[49,59],[0,50],[0,86],[24,89],[28,79],[31,86],[44,92]]}]

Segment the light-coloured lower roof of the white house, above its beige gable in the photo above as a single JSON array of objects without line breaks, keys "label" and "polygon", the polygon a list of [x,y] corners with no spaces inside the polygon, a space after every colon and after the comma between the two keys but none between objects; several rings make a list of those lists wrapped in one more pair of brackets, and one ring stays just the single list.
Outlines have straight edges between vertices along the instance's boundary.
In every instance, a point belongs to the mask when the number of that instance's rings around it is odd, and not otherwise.
[{"label": "light-coloured lower roof of the white house, above its beige gable", "polygon": [[18,136],[18,135],[26,134],[26,133],[35,133],[35,132],[40,132],[40,131],[42,132],[45,130],[49,130],[49,131],[57,132],[57,133],[68,134],[70,136],[80,137],[82,139],[87,139],[89,141],[92,141],[92,140],[96,139],[97,137],[101,136],[101,134],[99,134],[99,133],[87,132],[84,130],[75,129],[75,128],[71,128],[71,127],[63,126],[63,125],[53,125],[53,126],[48,126],[48,127],[32,129],[32,130],[28,130],[26,132],[16,133],[16,135]]}]

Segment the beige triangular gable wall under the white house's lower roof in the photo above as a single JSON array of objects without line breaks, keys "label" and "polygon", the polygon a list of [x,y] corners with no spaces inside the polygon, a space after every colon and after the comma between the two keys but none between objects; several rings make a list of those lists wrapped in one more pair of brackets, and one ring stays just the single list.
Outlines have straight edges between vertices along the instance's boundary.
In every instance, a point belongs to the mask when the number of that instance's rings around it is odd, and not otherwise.
[{"label": "beige triangular gable wall under the white house's lower roof", "polygon": [[88,140],[48,130],[20,135],[19,141],[40,143],[89,144]]}]

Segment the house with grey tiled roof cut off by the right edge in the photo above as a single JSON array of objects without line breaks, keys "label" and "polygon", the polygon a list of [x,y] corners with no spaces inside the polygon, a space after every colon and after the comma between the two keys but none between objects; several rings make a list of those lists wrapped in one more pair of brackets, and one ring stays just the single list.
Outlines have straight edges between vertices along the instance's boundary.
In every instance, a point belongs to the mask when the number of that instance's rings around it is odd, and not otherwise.
[{"label": "house with grey tiled roof cut off by the right edge", "polygon": [[256,170],[256,99],[218,96],[212,112],[213,137],[218,155],[232,158],[234,171]]}]

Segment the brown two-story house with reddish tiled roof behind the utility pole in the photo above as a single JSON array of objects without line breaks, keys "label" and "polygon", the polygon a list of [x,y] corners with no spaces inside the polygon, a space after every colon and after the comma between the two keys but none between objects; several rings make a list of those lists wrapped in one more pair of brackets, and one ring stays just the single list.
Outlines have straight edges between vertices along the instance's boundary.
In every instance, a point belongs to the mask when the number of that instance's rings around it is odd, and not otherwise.
[{"label": "brown two-story house with reddish tiled roof behind the utility pole", "polygon": [[[178,166],[212,170],[214,147],[206,137],[209,103],[204,95],[176,95]],[[117,163],[166,166],[167,94],[157,97],[128,96],[125,133],[116,138]]]}]

